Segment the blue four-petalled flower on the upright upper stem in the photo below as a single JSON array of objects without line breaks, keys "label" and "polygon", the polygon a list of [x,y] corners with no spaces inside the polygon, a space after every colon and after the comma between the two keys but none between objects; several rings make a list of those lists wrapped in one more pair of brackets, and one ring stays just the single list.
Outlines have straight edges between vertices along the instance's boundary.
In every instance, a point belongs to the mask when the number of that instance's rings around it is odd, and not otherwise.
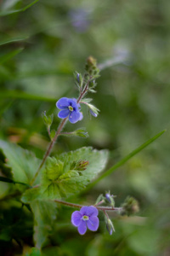
[{"label": "blue four-petalled flower on the upright upper stem", "polygon": [[66,97],[60,98],[56,102],[56,107],[61,109],[58,113],[59,119],[65,119],[69,117],[69,121],[72,124],[82,120],[82,113],[80,112],[80,104],[77,103],[76,99],[69,99]]}]

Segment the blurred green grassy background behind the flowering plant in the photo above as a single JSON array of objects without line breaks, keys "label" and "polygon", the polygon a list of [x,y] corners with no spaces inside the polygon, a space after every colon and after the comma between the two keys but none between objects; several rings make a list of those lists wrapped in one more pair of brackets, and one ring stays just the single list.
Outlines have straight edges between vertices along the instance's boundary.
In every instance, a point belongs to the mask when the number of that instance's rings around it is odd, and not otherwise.
[{"label": "blurred green grassy background behind the flowering plant", "polygon": [[[113,218],[116,232],[112,236],[102,221],[97,233],[79,236],[70,223],[72,211],[64,209],[65,217],[58,218],[42,255],[170,255],[170,1],[39,0],[29,6],[31,3],[0,2],[2,139],[19,143],[42,158],[48,134],[41,114],[44,110],[54,113],[54,128],[59,125],[55,102],[62,96],[77,97],[72,74],[83,72],[89,55],[99,64],[108,60],[114,64],[101,71],[97,93],[92,95],[99,117],[89,119],[84,110],[81,123],[68,124],[67,131],[87,127],[88,139],[60,137],[54,154],[89,145],[108,148],[109,167],[167,129],[81,199],[93,204],[110,189],[119,206],[127,195],[133,195],[140,205],[138,216]],[[7,187],[0,184],[1,198]],[[17,207],[11,203],[13,216]],[[62,216],[62,209],[59,211]],[[32,246],[27,236],[21,237],[24,253]],[[1,236],[0,247],[8,248],[4,255],[20,255],[18,246]]]}]

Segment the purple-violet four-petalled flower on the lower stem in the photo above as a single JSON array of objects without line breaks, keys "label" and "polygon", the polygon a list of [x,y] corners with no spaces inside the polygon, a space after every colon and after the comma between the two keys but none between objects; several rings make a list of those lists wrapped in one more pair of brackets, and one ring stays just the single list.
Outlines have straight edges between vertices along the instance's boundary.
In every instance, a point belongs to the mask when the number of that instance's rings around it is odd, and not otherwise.
[{"label": "purple-violet four-petalled flower on the lower stem", "polygon": [[72,212],[71,223],[78,228],[80,235],[88,230],[96,231],[99,228],[98,209],[95,207],[82,207],[80,211]]}]

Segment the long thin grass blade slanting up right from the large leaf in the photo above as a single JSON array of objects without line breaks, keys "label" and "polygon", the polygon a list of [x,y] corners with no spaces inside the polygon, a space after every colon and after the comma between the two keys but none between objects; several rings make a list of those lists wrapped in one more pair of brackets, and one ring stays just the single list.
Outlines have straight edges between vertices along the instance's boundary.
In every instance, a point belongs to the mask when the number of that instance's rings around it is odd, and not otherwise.
[{"label": "long thin grass blade slanting up right from the large leaf", "polygon": [[146,143],[139,146],[139,148],[136,148],[130,154],[127,154],[127,156],[125,156],[122,160],[118,161],[116,163],[116,165],[112,166],[108,171],[104,172],[99,178],[94,180],[93,183],[90,183],[87,187],[87,190],[93,188],[94,185],[96,183],[99,183],[99,181],[102,180],[104,177],[107,177],[112,172],[116,171],[116,169],[118,167],[124,165],[127,162],[127,160],[130,160],[135,154],[138,154],[140,151],[142,151],[144,148],[146,148],[148,145],[150,145],[150,143],[153,143],[154,141],[156,141],[156,139],[158,137],[160,137],[165,131],[167,131],[167,130],[163,130],[163,131],[159,132],[158,134],[156,134],[156,136],[150,138]]}]

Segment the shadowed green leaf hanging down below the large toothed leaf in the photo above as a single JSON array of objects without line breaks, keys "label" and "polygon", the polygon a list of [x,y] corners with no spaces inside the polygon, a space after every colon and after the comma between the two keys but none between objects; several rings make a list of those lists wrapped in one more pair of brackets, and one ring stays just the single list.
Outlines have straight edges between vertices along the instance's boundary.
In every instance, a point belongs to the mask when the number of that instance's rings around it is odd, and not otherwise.
[{"label": "shadowed green leaf hanging down below the large toothed leaf", "polygon": [[57,205],[53,201],[32,201],[34,214],[34,241],[37,248],[48,244],[48,236],[52,233],[57,214]]}]

